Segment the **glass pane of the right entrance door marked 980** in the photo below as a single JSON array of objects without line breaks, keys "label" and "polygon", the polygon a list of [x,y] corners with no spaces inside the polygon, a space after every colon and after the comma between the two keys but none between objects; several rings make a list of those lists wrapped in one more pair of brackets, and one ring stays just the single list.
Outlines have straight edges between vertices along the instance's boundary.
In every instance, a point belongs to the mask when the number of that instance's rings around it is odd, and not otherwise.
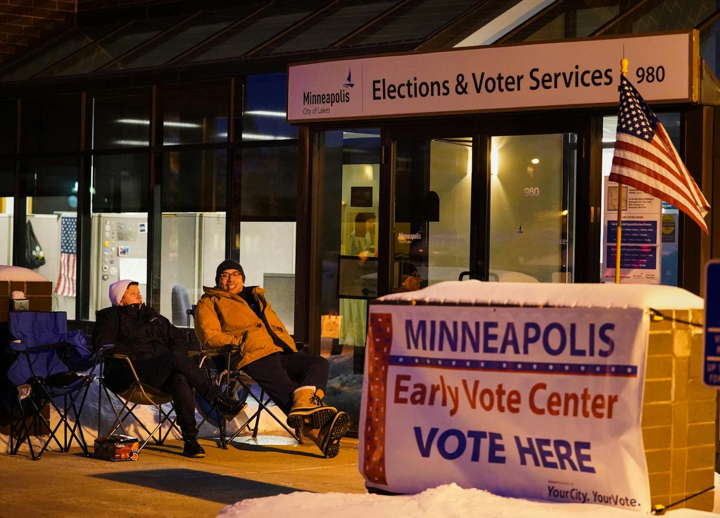
[{"label": "glass pane of the right entrance door marked 980", "polygon": [[490,279],[572,282],[575,134],[492,137]]}]

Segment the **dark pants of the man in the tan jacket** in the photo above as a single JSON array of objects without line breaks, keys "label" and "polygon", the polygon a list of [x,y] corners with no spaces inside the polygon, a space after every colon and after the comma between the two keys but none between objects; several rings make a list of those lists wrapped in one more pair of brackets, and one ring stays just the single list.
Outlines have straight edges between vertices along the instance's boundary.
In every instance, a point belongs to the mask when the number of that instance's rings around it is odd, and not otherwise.
[{"label": "dark pants of the man in the tan jacket", "polygon": [[243,367],[286,415],[297,387],[314,385],[325,392],[329,369],[328,360],[306,353],[274,353]]}]

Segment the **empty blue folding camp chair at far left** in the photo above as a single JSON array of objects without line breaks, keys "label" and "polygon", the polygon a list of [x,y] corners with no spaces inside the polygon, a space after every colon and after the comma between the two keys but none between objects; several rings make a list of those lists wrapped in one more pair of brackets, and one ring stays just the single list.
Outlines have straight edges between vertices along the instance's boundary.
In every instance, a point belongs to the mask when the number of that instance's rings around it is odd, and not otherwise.
[{"label": "empty blue folding camp chair at far left", "polygon": [[[7,377],[16,387],[9,402],[13,416],[10,453],[16,454],[27,440],[32,460],[37,461],[51,441],[54,440],[61,451],[68,451],[76,440],[89,456],[80,417],[94,374],[77,372],[93,367],[94,358],[85,336],[79,330],[68,333],[67,314],[61,311],[9,313],[8,328],[13,340],[8,349],[14,361]],[[42,415],[48,406],[60,417],[55,427]],[[74,423],[68,417],[73,417]],[[41,429],[46,427],[50,435],[37,455],[30,433],[36,423]],[[60,427],[63,428],[62,443],[58,438]],[[16,433],[20,435],[17,443],[13,443]]]}]

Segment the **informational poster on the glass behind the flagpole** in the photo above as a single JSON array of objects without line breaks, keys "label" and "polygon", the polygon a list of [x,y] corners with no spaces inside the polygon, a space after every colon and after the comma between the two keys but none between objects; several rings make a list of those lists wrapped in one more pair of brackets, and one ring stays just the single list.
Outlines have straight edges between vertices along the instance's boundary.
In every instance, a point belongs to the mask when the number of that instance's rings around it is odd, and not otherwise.
[{"label": "informational poster on the glass behind the flagpole", "polygon": [[[623,185],[623,217],[620,254],[621,282],[660,284],[662,205],[660,199]],[[618,228],[618,184],[603,177],[603,282],[615,281]]]}]

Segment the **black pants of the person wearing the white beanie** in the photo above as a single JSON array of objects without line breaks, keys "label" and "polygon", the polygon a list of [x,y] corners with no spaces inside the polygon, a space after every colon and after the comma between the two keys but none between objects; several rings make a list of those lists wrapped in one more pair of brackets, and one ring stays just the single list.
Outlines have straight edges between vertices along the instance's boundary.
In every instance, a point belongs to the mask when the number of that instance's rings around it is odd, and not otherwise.
[{"label": "black pants of the person wearing the white beanie", "polygon": [[[212,401],[222,392],[197,364],[188,358],[183,349],[148,358],[130,358],[138,378],[144,384],[172,394],[175,415],[183,438],[197,437],[195,398],[192,389]],[[107,364],[105,382],[113,392],[122,392],[132,384],[132,373],[125,361],[113,359]]]}]

